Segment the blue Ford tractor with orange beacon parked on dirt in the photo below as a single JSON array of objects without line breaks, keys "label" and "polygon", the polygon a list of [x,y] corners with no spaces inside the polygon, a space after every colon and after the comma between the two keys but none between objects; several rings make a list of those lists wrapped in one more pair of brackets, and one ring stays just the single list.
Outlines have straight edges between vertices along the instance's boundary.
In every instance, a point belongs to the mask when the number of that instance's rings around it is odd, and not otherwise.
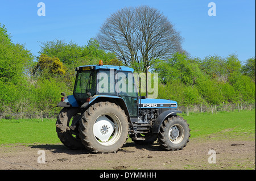
[{"label": "blue Ford tractor with orange beacon parked on dirt", "polygon": [[[115,153],[128,136],[136,144],[158,140],[166,150],[186,146],[190,129],[177,116],[177,102],[138,94],[133,69],[127,66],[87,65],[76,68],[73,95],[62,92],[56,132],[69,149]],[[127,90],[127,91],[125,91]]]}]

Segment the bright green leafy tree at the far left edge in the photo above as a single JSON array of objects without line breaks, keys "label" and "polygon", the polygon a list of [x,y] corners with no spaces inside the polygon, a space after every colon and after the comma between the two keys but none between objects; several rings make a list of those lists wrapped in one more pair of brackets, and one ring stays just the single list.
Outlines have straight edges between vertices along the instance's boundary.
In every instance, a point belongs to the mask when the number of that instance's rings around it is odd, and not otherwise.
[{"label": "bright green leafy tree at the far left edge", "polygon": [[13,43],[0,24],[0,111],[19,111],[33,58],[24,45]]}]

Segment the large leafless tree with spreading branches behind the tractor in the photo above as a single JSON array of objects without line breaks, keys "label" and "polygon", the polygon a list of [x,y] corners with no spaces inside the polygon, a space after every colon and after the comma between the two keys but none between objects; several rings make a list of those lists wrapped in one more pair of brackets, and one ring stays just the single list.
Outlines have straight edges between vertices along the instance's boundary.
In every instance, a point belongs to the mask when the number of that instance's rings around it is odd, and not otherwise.
[{"label": "large leafless tree with spreading branches behind the tractor", "polygon": [[96,37],[101,48],[115,52],[125,65],[146,71],[158,58],[183,52],[182,38],[159,10],[125,7],[110,15]]}]

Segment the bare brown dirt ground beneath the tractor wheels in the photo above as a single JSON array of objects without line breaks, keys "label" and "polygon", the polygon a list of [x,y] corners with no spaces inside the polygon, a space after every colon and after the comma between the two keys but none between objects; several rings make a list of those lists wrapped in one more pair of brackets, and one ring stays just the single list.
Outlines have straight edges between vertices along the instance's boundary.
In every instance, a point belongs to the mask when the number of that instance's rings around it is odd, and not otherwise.
[{"label": "bare brown dirt ground beneath the tractor wheels", "polygon": [[127,142],[122,150],[108,154],[69,150],[61,144],[5,145],[0,147],[0,169],[255,170],[255,140],[195,138],[179,151],[165,151],[157,142],[146,146]]}]

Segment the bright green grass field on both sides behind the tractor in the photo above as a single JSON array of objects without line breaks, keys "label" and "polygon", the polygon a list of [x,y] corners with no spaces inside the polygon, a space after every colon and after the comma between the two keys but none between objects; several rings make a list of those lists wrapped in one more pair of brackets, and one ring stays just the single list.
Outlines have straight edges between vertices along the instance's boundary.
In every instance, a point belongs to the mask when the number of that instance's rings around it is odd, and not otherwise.
[{"label": "bright green grass field on both sides behind the tractor", "polygon": [[[191,138],[241,138],[255,140],[255,110],[240,112],[199,113],[183,116],[191,128]],[[53,119],[0,120],[0,145],[60,143]],[[128,140],[130,141],[130,140]]]}]

